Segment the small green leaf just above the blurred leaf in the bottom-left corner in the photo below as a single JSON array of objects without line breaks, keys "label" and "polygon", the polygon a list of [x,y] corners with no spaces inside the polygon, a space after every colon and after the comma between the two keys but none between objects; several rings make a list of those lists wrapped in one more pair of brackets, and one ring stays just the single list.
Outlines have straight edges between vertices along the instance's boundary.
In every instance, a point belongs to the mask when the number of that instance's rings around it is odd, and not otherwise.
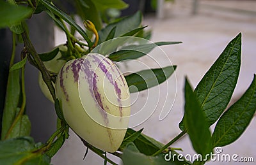
[{"label": "small green leaf just above the blurred leaf in the bottom-left corner", "polygon": [[18,122],[13,127],[11,133],[8,135],[10,138],[18,138],[21,136],[29,136],[31,130],[31,123],[29,121],[28,115],[22,115]]}]

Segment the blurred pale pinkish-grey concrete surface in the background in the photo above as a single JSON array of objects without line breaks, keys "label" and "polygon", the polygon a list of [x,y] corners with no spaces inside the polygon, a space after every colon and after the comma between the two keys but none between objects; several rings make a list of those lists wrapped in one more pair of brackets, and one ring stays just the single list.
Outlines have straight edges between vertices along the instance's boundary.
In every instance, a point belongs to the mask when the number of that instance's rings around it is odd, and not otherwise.
[{"label": "blurred pale pinkish-grey concrete surface in the background", "polygon": [[[239,99],[244,90],[252,82],[253,74],[256,73],[256,1],[200,1],[198,15],[191,15],[192,1],[180,0],[175,4],[166,4],[164,8],[165,18],[157,20],[154,15],[147,15],[143,25],[149,25],[152,29],[152,41],[182,41],[180,45],[161,47],[172,64],[177,65],[175,76],[172,76],[167,83],[159,87],[160,100],[156,112],[147,121],[135,129],[144,127],[144,133],[156,138],[163,143],[168,143],[180,133],[179,122],[184,111],[184,77],[188,76],[193,87],[200,81],[211,64],[218,58],[228,42],[239,32],[242,32],[242,64],[241,75],[234,92],[233,101]],[[239,11],[238,11],[239,10]],[[65,42],[65,36],[56,32],[56,45]],[[168,62],[159,54],[154,57],[163,65]],[[150,67],[156,67],[154,62],[147,57],[139,59]],[[137,66],[127,62],[126,68],[136,69]],[[137,68],[140,68],[138,66]],[[176,83],[176,80],[177,83]],[[173,86],[174,85],[174,86]],[[168,87],[168,96],[161,96]],[[177,87],[177,93],[176,88]],[[153,88],[151,90],[158,90]],[[147,97],[147,94],[140,92],[139,98]],[[159,120],[159,113],[163,107],[165,98],[174,101],[172,110],[164,120]],[[168,102],[167,102],[168,103]],[[136,104],[132,108],[140,108]],[[152,105],[155,106],[155,105]],[[164,107],[166,108],[166,107]],[[168,107],[170,108],[170,107]],[[133,110],[133,109],[132,109]],[[168,110],[167,110],[168,111]],[[253,142],[256,120],[253,118],[250,126],[235,143],[223,147],[222,154],[237,154],[239,157],[253,157],[256,161],[256,144]],[[172,147],[179,147],[184,150],[182,154],[195,154],[188,136],[185,136]],[[70,131],[70,138],[65,142],[61,150],[52,159],[52,164],[103,164],[103,159],[89,152],[85,161],[83,155],[86,148],[81,141]],[[119,162],[116,160],[116,162]],[[208,164],[234,164],[235,162],[209,162]],[[236,162],[242,164],[242,162]],[[253,162],[246,162],[253,164]]]}]

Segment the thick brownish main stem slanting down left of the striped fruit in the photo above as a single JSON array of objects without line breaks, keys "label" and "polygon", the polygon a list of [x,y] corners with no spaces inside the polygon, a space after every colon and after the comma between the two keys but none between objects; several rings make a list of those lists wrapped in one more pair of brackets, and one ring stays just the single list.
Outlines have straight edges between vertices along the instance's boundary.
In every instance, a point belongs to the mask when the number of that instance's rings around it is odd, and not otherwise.
[{"label": "thick brownish main stem slanting down left of the striped fruit", "polygon": [[[24,29],[26,29],[26,28],[24,28]],[[28,51],[28,54],[33,57],[36,65],[38,66],[38,69],[42,73],[44,82],[46,83],[48,89],[51,92],[52,98],[55,100],[55,98],[56,98],[55,90],[54,90],[54,87],[51,82],[51,76],[49,75],[49,72],[45,68],[44,63],[41,61],[39,55],[36,53],[36,50],[35,50],[34,46],[32,45],[29,35],[28,35],[28,32],[26,30],[24,32],[22,32],[22,39],[24,41],[24,45],[25,45],[26,50]]]}]

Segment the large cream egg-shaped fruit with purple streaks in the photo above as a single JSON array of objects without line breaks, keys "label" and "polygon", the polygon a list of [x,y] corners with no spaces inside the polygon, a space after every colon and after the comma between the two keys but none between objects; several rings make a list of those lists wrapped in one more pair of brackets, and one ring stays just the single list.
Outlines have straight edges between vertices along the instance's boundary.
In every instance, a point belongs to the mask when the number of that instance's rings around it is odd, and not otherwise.
[{"label": "large cream egg-shaped fruit with purple streaks", "polygon": [[[113,85],[111,78],[106,78],[103,69],[97,68],[99,62],[95,62],[95,58],[103,60],[100,64],[105,67],[104,69],[109,70],[108,74],[111,75],[116,86]],[[78,81],[77,73],[80,70],[78,66],[82,65],[83,59],[86,59],[89,68],[82,67],[84,70],[81,69]],[[95,68],[97,69],[95,70]],[[97,89],[93,92],[96,92],[100,99],[97,94],[92,93],[92,83],[89,80],[92,75],[90,71],[94,71],[97,75],[95,78]],[[84,78],[86,74],[89,77],[87,79]],[[119,91],[116,94],[114,86],[118,89],[116,91]],[[88,54],[82,59],[68,61],[61,68],[56,80],[56,97],[60,101],[63,116],[68,125],[85,141],[106,152],[115,152],[124,140],[131,114],[131,100],[128,91],[125,78],[120,75],[118,68],[109,59],[99,54]],[[108,113],[102,113],[100,107],[103,107],[103,111]],[[92,110],[90,116],[88,109]],[[119,118],[113,118],[109,113]]]}]

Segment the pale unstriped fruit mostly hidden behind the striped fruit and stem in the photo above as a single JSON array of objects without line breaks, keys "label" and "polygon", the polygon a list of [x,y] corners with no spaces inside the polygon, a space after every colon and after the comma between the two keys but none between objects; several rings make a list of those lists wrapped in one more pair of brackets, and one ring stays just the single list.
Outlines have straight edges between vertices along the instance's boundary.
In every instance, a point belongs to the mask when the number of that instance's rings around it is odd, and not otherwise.
[{"label": "pale unstriped fruit mostly hidden behind the striped fruit and stem", "polygon": [[[67,46],[65,45],[59,45],[58,48],[60,49],[60,51],[66,52],[67,51]],[[64,60],[57,60],[61,57],[61,52],[58,52],[58,54],[51,60],[51,61],[45,61],[44,65],[45,67],[49,70],[52,71],[54,73],[59,73],[61,67],[63,66],[63,64],[65,64],[66,61]],[[51,101],[52,103],[54,103],[54,100],[52,99],[51,96],[51,92],[49,91],[47,85],[45,84],[43,78],[42,78],[42,74],[39,72],[38,74],[38,84],[40,89],[42,90],[43,94],[45,97],[47,97],[47,99],[49,99],[49,101]],[[52,83],[55,87],[55,84]]]}]

